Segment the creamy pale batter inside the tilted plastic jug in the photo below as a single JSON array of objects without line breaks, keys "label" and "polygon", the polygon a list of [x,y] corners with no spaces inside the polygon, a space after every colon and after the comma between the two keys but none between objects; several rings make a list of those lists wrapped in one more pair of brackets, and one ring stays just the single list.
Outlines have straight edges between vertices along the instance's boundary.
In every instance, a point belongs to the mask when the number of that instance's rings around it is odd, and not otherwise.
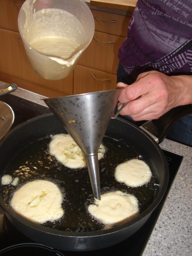
[{"label": "creamy pale batter inside the tilted plastic jug", "polygon": [[[54,8],[42,9],[26,19],[24,37],[37,52],[62,60],[73,57],[86,43],[79,20],[68,11]],[[62,64],[62,60],[56,61]]]}]

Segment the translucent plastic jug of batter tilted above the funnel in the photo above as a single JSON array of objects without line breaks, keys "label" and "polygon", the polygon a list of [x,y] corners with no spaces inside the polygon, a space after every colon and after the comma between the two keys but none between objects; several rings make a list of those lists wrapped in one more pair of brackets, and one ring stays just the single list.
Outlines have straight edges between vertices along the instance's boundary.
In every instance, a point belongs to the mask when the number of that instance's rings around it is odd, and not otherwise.
[{"label": "translucent plastic jug of batter tilted above the funnel", "polygon": [[83,0],[26,0],[18,26],[32,69],[50,80],[73,71],[95,30]]}]

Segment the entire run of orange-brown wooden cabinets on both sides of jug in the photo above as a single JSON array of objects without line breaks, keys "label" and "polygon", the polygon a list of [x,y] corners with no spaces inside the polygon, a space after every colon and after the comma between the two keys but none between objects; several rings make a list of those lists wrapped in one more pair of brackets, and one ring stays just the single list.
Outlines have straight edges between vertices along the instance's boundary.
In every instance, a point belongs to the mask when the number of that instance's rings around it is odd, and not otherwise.
[{"label": "entire run of orange-brown wooden cabinets on both sides of jug", "polygon": [[116,88],[118,49],[127,33],[130,16],[91,10],[95,34],[75,70],[61,80],[47,80],[30,67],[18,30],[24,0],[0,0],[0,80],[47,97]]}]

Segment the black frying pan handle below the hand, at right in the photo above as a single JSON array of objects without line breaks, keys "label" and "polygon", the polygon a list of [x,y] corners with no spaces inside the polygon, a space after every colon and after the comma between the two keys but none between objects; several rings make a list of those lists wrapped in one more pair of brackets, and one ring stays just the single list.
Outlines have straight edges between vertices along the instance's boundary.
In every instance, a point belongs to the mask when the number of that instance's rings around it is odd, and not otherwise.
[{"label": "black frying pan handle below the hand, at right", "polygon": [[143,130],[154,135],[157,138],[155,140],[161,143],[165,139],[170,126],[181,117],[190,113],[192,113],[192,104],[178,106],[162,115],[159,119],[144,123],[140,128],[144,128]]}]

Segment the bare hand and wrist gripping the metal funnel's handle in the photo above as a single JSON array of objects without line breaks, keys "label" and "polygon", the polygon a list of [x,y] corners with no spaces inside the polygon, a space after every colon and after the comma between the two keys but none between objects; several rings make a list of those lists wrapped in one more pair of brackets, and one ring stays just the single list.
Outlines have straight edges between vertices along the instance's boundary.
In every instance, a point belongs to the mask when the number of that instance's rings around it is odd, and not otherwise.
[{"label": "bare hand and wrist gripping the metal funnel's handle", "polygon": [[192,103],[192,76],[167,76],[158,71],[140,74],[128,85],[122,82],[117,88],[124,88],[119,96],[118,109],[135,121],[157,119],[176,106]]}]

